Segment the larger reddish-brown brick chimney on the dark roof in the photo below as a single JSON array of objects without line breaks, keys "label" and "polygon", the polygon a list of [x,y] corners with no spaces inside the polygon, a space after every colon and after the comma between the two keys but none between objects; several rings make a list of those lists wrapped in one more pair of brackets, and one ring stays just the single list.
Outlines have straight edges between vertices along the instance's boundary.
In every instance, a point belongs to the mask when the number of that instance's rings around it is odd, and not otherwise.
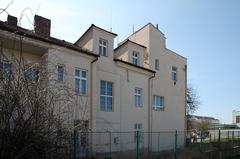
[{"label": "larger reddish-brown brick chimney on the dark roof", "polygon": [[43,37],[50,37],[51,20],[41,17],[39,15],[34,16],[34,31],[36,34]]}]

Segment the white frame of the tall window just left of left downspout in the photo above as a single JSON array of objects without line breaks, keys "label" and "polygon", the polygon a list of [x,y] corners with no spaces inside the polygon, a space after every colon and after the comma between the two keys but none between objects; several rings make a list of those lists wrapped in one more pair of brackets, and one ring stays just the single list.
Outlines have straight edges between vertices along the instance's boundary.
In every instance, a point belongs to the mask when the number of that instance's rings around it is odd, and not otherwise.
[{"label": "white frame of the tall window just left of left downspout", "polygon": [[[76,75],[76,71],[79,71],[79,76]],[[82,74],[83,72],[86,73],[86,77],[83,77]],[[81,68],[75,68],[75,78],[74,78],[74,82],[75,82],[75,92],[80,94],[80,95],[87,95],[88,93],[88,71],[85,69],[81,69]],[[79,80],[79,88],[77,89],[76,87],[76,80]],[[83,92],[83,88],[82,88],[82,82],[86,81],[86,92]]]}]

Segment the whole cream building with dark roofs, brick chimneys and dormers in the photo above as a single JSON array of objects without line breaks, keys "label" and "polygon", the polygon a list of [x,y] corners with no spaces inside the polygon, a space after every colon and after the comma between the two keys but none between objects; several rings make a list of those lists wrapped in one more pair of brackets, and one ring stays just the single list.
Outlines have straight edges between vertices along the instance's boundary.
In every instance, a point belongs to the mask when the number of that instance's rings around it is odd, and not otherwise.
[{"label": "whole cream building with dark roofs, brick chimneys and dormers", "polygon": [[[85,123],[92,132],[186,130],[187,59],[166,47],[158,27],[148,23],[114,48],[117,34],[98,26],[91,25],[74,44],[51,37],[50,26],[50,20],[36,15],[35,29],[26,30],[9,16],[0,22],[0,42],[5,54],[17,54],[21,44],[27,63],[45,58],[55,72],[51,78],[81,96],[84,111],[74,109],[73,123]],[[124,144],[128,139],[120,133],[111,137],[116,141],[112,151],[135,147]],[[162,138],[161,149],[171,149],[174,135]],[[143,146],[156,150],[156,141],[147,133]]]}]

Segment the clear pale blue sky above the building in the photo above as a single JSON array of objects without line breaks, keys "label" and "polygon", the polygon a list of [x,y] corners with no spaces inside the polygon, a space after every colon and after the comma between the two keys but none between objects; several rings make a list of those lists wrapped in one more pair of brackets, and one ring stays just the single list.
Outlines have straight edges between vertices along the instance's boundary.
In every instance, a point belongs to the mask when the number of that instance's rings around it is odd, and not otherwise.
[{"label": "clear pale blue sky above the building", "polygon": [[[0,7],[10,0],[1,0]],[[23,12],[25,8],[27,9]],[[31,10],[31,11],[30,11]],[[231,123],[240,110],[240,1],[238,0],[14,0],[7,9],[31,29],[33,15],[52,20],[51,35],[75,42],[92,24],[118,34],[120,42],[151,22],[167,47],[188,58],[188,82],[197,89],[197,115]],[[0,20],[5,21],[2,13]],[[28,20],[29,19],[29,20]]]}]

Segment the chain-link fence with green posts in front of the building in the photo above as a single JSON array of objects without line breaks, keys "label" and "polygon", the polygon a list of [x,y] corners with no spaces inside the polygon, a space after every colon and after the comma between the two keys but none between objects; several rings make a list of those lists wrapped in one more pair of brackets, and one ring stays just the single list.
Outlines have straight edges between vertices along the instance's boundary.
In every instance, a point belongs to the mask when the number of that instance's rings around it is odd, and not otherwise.
[{"label": "chain-link fence with green posts in front of the building", "polygon": [[[171,132],[74,132],[72,153],[80,158],[190,158],[240,146],[240,130]],[[239,151],[237,151],[239,152]],[[207,158],[207,157],[206,157]]]}]

